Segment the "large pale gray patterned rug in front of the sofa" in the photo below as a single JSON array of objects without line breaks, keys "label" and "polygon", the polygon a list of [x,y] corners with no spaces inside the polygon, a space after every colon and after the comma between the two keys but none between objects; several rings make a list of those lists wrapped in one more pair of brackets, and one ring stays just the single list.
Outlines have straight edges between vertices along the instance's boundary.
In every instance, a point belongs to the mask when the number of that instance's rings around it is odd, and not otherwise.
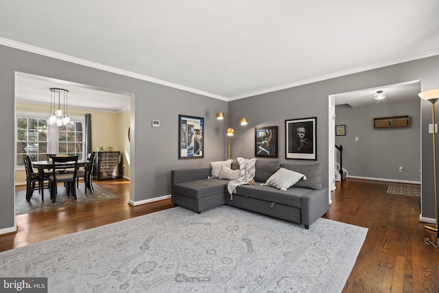
[{"label": "large pale gray patterned rug in front of the sofa", "polygon": [[49,292],[341,292],[367,230],[175,207],[5,251],[0,276],[47,277]]}]

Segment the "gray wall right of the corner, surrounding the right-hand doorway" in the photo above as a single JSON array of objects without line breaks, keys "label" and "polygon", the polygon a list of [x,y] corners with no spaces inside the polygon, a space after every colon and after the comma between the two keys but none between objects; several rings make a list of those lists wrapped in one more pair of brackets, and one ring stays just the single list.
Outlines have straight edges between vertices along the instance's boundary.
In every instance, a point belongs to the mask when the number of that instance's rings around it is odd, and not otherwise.
[{"label": "gray wall right of the corner, surrounding the right-hand doorway", "polygon": [[[317,117],[317,161],[324,166],[322,180],[323,185],[327,187],[329,95],[414,80],[421,81],[421,91],[439,88],[439,56],[232,101],[228,105],[230,119],[234,121],[241,116],[246,116],[249,121],[245,128],[235,128],[236,139],[233,141],[233,157],[254,155],[252,148],[254,127],[279,126],[279,159],[287,161],[285,159],[285,119]],[[428,134],[428,124],[431,123],[431,104],[429,102],[421,102],[421,121],[421,163],[422,168],[426,170],[421,178],[421,217],[434,219],[434,178],[431,172],[433,151],[431,135]]]}]

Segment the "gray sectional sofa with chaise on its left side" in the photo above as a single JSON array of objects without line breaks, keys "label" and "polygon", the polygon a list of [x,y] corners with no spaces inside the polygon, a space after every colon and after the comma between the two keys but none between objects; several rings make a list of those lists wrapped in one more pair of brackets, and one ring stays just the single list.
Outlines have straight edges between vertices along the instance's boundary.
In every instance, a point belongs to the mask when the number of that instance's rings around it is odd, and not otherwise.
[{"label": "gray sectional sofa with chaise on its left side", "polygon": [[[286,191],[261,185],[281,167],[304,174]],[[239,169],[236,160],[230,169]],[[278,160],[258,159],[255,163],[255,185],[240,185],[230,198],[230,180],[211,178],[211,167],[176,169],[171,171],[171,199],[176,205],[200,213],[206,209],[228,204],[249,211],[270,215],[309,228],[329,210],[328,189],[322,188],[320,163],[281,163]]]}]

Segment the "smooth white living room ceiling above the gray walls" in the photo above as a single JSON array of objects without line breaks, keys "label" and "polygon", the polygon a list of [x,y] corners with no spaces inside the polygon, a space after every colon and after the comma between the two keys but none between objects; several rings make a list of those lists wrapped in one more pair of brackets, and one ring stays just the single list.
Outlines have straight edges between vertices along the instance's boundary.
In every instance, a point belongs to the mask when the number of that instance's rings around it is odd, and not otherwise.
[{"label": "smooth white living room ceiling above the gray walls", "polygon": [[437,55],[438,12],[437,0],[0,0],[0,44],[230,101]]}]

